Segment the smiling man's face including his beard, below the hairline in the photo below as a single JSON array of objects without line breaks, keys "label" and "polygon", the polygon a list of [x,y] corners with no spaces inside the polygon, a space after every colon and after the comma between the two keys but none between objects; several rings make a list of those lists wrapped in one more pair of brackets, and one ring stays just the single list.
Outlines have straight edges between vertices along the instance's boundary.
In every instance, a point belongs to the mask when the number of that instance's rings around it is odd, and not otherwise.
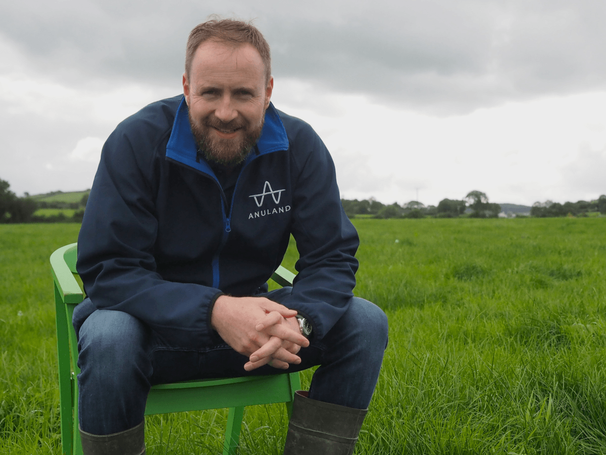
[{"label": "smiling man's face including his beard, below the hairline", "polygon": [[208,160],[240,163],[263,129],[273,78],[251,44],[204,41],[183,75],[191,132]]}]

